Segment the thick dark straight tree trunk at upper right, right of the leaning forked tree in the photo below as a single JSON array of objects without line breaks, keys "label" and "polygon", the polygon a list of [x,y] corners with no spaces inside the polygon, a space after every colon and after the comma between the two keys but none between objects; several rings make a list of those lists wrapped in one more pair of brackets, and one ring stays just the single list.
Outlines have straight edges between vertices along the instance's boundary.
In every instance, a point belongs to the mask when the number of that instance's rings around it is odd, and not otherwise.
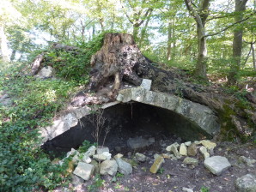
[{"label": "thick dark straight tree trunk at upper right, right of the leaning forked tree", "polygon": [[[235,22],[242,20],[243,11],[246,10],[246,3],[247,0],[235,0]],[[233,37],[233,61],[229,72],[229,85],[235,85],[238,80],[237,74],[241,67],[242,34],[243,29],[241,27],[235,29]]]}]

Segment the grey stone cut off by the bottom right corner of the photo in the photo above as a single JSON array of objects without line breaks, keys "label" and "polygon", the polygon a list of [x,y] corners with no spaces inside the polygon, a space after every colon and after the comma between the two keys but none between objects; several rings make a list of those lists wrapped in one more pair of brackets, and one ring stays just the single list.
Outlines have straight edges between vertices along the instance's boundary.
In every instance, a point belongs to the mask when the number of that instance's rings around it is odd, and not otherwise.
[{"label": "grey stone cut off by the bottom right corner of the photo", "polygon": [[236,192],[255,192],[256,191],[256,175],[247,174],[239,177],[235,181]]}]

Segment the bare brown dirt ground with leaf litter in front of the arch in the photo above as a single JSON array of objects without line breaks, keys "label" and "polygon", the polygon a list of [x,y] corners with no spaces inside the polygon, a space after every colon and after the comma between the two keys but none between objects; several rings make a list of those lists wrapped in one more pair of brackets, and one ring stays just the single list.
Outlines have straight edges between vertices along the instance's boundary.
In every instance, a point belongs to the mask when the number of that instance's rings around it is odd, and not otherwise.
[{"label": "bare brown dirt ground with leaf litter in front of the arch", "polygon": [[[131,175],[126,177],[119,176],[114,182],[113,177],[101,176],[101,179],[105,182],[104,187],[101,187],[99,191],[180,192],[185,187],[192,189],[194,192],[232,192],[235,191],[235,180],[237,177],[241,177],[247,173],[256,174],[255,165],[253,167],[245,165],[239,159],[241,156],[256,159],[256,147],[253,144],[217,143],[214,155],[221,155],[228,158],[232,165],[221,176],[215,176],[204,168],[204,159],[199,153],[196,157],[199,160],[199,165],[196,167],[182,164],[185,157],[178,160],[165,159],[165,163],[162,165],[162,171],[152,174],[149,168],[153,164],[153,156],[155,153],[162,153],[161,150],[156,151],[157,147],[159,146],[155,143],[155,145],[147,148],[143,152],[149,159],[144,163],[133,165]],[[92,184],[93,179],[88,183],[82,184],[76,191],[88,191],[88,185]]]}]

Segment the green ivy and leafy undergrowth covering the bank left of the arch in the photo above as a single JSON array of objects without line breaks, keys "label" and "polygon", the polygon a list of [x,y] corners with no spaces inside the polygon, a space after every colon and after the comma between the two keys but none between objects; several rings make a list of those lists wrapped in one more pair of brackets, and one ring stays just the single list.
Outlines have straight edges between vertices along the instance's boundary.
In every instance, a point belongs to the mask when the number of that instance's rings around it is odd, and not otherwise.
[{"label": "green ivy and leafy undergrowth covering the bank left of the arch", "polygon": [[0,103],[0,191],[52,190],[68,182],[68,162],[54,165],[40,149],[39,127],[68,103],[70,95],[88,82],[88,63],[101,47],[103,34],[82,45],[82,56],[47,51],[58,79],[40,80],[28,74],[28,64],[0,71],[0,94],[8,93],[12,105]]}]

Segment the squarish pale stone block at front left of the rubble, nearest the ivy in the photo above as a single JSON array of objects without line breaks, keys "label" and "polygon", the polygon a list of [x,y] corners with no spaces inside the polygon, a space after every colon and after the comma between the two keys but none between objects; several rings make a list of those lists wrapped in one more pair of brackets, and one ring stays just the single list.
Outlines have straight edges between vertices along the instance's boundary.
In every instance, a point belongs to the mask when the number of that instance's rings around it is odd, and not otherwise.
[{"label": "squarish pale stone block at front left of the rubble, nearest the ivy", "polygon": [[76,166],[75,171],[73,171],[73,174],[75,174],[78,177],[81,177],[82,179],[88,181],[90,177],[92,177],[94,173],[94,165],[90,165],[87,163],[79,162]]}]

